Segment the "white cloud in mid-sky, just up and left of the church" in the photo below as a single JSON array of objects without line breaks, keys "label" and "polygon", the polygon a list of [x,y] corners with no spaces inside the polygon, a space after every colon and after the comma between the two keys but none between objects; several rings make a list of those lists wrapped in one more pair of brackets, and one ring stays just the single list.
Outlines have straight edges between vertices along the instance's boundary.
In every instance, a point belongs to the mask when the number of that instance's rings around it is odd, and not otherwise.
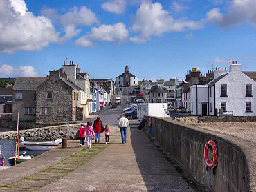
[{"label": "white cloud in mid-sky, just up and left of the church", "polygon": [[92,46],[92,41],[125,41],[129,32],[124,23],[93,27],[89,35],[75,41],[77,46]]}]

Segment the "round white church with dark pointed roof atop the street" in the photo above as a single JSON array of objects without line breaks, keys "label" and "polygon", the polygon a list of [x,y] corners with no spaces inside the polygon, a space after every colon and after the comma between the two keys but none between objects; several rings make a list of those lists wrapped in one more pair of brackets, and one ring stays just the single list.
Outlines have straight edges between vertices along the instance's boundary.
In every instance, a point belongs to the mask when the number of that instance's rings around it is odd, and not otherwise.
[{"label": "round white church with dark pointed roof atop the street", "polygon": [[129,66],[125,66],[125,72],[116,77],[118,87],[138,86],[138,77],[130,73]]}]

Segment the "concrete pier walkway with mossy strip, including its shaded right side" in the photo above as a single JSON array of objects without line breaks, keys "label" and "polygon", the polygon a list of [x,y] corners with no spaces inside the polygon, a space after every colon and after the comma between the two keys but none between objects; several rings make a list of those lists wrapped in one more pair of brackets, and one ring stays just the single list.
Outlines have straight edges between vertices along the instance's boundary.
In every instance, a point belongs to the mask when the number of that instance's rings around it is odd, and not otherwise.
[{"label": "concrete pier walkway with mossy strip, including its shaded right side", "polygon": [[55,148],[0,172],[0,191],[193,191],[143,131],[131,128],[121,144],[114,127],[111,144]]}]

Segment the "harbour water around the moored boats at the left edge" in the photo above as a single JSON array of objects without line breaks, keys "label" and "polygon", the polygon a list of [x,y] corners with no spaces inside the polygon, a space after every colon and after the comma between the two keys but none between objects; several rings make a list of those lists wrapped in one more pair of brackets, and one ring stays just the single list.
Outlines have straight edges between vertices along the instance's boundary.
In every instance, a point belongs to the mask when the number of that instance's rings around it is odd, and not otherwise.
[{"label": "harbour water around the moored boats at the left edge", "polygon": [[[0,140],[1,155],[3,155],[3,160],[6,162],[5,166],[10,166],[10,164],[8,163],[8,158],[15,156],[15,145],[16,140]],[[21,150],[20,154],[22,154],[24,151],[26,151],[27,154],[34,155],[34,157],[46,152]]]}]

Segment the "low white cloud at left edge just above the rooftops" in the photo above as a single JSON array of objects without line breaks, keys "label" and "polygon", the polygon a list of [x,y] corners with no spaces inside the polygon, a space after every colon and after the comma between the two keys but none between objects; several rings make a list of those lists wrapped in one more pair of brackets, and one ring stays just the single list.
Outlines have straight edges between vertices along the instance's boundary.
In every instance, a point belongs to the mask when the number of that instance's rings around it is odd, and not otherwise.
[{"label": "low white cloud at left edge just above the rooftops", "polygon": [[0,75],[3,77],[37,77],[37,70],[33,66],[15,68],[8,64],[0,66]]}]

